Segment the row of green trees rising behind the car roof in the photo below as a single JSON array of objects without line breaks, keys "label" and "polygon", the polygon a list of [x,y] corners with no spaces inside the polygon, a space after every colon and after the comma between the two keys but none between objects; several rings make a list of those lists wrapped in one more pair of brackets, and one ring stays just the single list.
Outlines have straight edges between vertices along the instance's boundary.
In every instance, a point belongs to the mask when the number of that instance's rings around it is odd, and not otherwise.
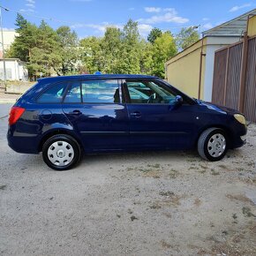
[{"label": "row of green trees rising behind the car roof", "polygon": [[[56,30],[45,21],[36,26],[22,17],[16,19],[15,38],[7,52],[27,64],[31,79],[75,73],[143,73],[164,77],[165,62],[177,53],[176,41],[170,32],[154,27],[147,41],[140,37],[138,23],[129,19],[123,29],[107,27],[102,37],[79,40],[69,26]],[[187,39],[187,34],[189,39]],[[180,45],[195,38],[182,30]]]}]

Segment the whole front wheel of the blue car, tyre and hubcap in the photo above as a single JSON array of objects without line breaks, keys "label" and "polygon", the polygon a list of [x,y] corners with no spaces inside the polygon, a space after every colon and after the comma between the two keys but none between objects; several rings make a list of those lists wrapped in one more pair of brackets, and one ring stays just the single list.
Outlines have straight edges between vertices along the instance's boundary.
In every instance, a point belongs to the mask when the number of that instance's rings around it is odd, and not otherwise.
[{"label": "whole front wheel of the blue car, tyre and hubcap", "polygon": [[219,128],[208,128],[202,132],[198,140],[198,152],[200,156],[208,161],[221,160],[228,150],[228,137]]}]

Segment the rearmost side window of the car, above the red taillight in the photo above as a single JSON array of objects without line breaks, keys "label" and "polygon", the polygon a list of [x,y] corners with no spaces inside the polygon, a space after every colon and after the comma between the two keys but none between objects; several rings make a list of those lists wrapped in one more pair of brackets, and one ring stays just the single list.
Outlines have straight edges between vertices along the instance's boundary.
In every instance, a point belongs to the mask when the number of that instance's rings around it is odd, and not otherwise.
[{"label": "rearmost side window of the car, above the red taillight", "polygon": [[63,100],[65,88],[67,83],[58,83],[53,87],[49,87],[45,92],[43,92],[37,99],[39,103],[60,103]]}]

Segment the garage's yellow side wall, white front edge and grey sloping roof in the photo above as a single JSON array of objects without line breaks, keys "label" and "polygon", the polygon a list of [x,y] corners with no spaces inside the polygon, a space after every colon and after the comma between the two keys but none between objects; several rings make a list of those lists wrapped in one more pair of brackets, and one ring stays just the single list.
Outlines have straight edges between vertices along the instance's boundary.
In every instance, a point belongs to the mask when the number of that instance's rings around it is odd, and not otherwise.
[{"label": "garage's yellow side wall, white front edge and grey sloping roof", "polygon": [[166,63],[166,79],[184,93],[210,102],[212,100],[215,51],[240,41],[249,15],[256,9],[205,32],[200,41],[184,49]]}]

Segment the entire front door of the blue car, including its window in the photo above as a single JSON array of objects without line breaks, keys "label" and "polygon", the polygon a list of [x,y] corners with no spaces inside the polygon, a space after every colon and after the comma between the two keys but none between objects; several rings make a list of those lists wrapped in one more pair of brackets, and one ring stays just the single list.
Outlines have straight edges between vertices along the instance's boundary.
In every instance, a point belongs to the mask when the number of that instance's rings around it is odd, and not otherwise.
[{"label": "entire front door of the blue car, including its window", "polygon": [[177,93],[156,79],[123,80],[133,148],[192,147],[194,106],[177,104]]}]

